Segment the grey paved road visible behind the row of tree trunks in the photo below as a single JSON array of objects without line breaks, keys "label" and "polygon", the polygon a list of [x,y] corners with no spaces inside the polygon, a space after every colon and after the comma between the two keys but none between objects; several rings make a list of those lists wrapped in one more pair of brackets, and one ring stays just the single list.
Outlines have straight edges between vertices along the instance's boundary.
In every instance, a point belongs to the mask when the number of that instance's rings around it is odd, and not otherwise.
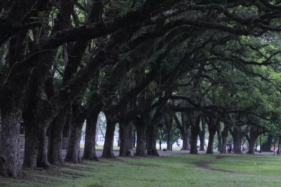
[{"label": "grey paved road visible behind the row of tree trunks", "polygon": [[[83,156],[83,149],[81,149],[80,151],[80,155],[81,157]],[[101,157],[103,151],[101,150],[96,150],[96,155],[97,157]],[[119,156],[119,151],[113,151],[114,155],[115,156]],[[159,155],[160,156],[165,156],[165,155],[184,155],[184,154],[189,154],[189,151],[158,151]],[[205,154],[206,151],[198,151],[199,154]],[[220,152],[218,151],[214,151],[214,154],[219,154]],[[246,153],[246,152],[243,152],[243,153]],[[63,150],[62,151],[62,157],[65,158],[65,155],[66,155],[66,151]],[[273,156],[273,153],[255,153],[255,155],[262,155],[262,156]],[[276,154],[275,154],[276,155]],[[24,152],[21,151],[21,160],[23,160],[23,157],[24,157]]]}]

